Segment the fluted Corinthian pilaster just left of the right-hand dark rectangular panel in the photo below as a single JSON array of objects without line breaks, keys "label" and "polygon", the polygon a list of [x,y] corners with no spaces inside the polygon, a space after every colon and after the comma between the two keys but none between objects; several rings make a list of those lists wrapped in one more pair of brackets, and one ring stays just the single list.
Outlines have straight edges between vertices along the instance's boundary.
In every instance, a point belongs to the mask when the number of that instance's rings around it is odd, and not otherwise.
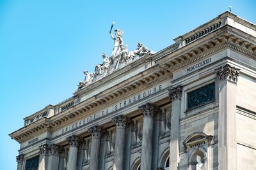
[{"label": "fluted Corinthian pilaster just left of the right-hand dark rectangular panel", "polygon": [[172,100],[171,135],[170,135],[170,169],[179,169],[179,118],[182,87],[179,85],[169,90]]}]

